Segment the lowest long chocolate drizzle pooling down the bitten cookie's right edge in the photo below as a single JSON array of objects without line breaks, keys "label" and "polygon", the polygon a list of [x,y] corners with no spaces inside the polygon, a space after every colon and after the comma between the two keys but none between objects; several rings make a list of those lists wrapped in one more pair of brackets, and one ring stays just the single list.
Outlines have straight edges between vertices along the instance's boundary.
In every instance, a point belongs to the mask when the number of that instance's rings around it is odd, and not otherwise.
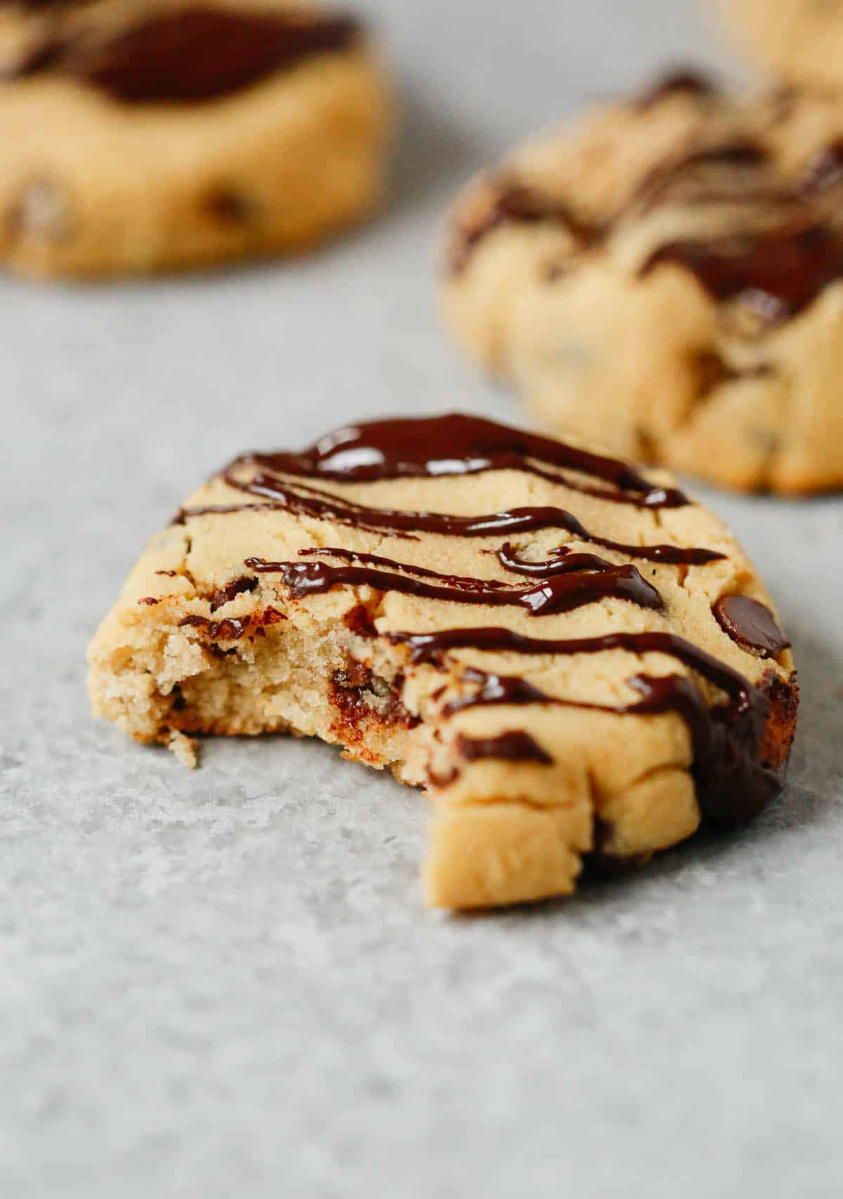
[{"label": "lowest long chocolate drizzle pooling down the bitten cookie's right edge", "polygon": [[[608,650],[666,653],[726,692],[728,704],[708,707],[693,682],[685,676],[636,675],[629,682],[641,692],[642,699],[629,707],[608,711],[621,715],[677,712],[683,717],[691,735],[693,776],[703,818],[710,824],[751,819],[783,785],[783,770],[774,770],[763,760],[770,711],[768,697],[736,670],[674,633],[608,633],[550,640],[523,637],[507,628],[450,628],[437,633],[386,635],[393,644],[406,645],[414,662],[429,662],[454,649],[548,656]],[[540,700],[545,701],[545,698]]]}]

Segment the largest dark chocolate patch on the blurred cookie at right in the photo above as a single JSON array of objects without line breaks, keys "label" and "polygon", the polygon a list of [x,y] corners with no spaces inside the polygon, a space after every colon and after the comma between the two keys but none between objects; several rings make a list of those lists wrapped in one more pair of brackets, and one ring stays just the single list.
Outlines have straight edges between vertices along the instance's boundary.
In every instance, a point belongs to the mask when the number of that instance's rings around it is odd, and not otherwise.
[{"label": "largest dark chocolate patch on the blurred cookie at right", "polygon": [[668,242],[639,273],[663,263],[690,271],[714,300],[745,300],[772,324],[800,313],[843,277],[843,241],[830,225],[786,223],[740,236]]}]

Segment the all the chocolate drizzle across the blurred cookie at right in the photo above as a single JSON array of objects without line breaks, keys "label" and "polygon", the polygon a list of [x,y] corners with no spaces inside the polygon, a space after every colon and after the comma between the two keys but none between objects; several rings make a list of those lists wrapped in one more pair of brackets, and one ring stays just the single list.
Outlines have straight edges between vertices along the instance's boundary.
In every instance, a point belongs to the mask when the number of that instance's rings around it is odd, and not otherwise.
[{"label": "all the chocolate drizzle across the blurred cookie at right", "polygon": [[[708,82],[684,71],[660,82],[633,103],[645,113],[678,92],[706,96]],[[826,287],[843,278],[843,234],[831,212],[829,193],[843,180],[843,138],[832,140],[809,161],[801,179],[781,168],[763,137],[738,137],[705,145],[706,126],[679,152],[662,161],[621,195],[614,210],[587,223],[571,211],[563,194],[547,194],[510,175],[490,183],[481,211],[457,225],[451,253],[454,272],[502,223],[556,221],[569,228],[576,245],[562,249],[557,261],[544,261],[540,273],[564,278],[577,255],[600,251],[618,225],[655,207],[672,205],[690,211],[703,205],[723,210],[722,231],[679,237],[657,246],[639,267],[648,276],[661,264],[674,264],[693,275],[717,302],[740,301],[762,324],[775,325],[807,308]],[[706,229],[710,222],[706,222]]]}]

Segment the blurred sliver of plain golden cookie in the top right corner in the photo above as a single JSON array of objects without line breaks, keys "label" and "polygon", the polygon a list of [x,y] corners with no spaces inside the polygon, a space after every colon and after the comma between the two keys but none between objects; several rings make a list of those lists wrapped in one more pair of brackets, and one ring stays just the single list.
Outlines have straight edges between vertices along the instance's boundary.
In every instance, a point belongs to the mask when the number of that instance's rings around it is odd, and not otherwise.
[{"label": "blurred sliver of plain golden cookie in the top right corner", "polygon": [[843,84],[841,0],[718,0],[747,55],[778,78],[808,86]]}]

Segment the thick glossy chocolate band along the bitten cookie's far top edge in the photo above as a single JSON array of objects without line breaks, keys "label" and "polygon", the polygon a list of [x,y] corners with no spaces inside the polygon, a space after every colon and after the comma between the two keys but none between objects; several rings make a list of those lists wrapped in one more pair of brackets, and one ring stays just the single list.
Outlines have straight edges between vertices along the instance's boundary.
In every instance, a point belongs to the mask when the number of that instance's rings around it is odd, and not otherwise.
[{"label": "thick glossy chocolate band along the bitten cookie's far top edge", "polygon": [[[572,470],[618,488],[586,488],[576,480],[536,465]],[[254,468],[255,478],[238,477]],[[395,417],[336,429],[298,453],[249,453],[224,471],[225,481],[251,495],[275,499],[278,476],[372,483],[384,478],[439,478],[490,470],[517,470],[602,499],[644,507],[684,507],[689,500],[673,488],[650,483],[629,463],[589,453],[553,438],[542,438],[497,421],[463,412],[445,416]],[[625,493],[633,493],[627,495]]]}]

